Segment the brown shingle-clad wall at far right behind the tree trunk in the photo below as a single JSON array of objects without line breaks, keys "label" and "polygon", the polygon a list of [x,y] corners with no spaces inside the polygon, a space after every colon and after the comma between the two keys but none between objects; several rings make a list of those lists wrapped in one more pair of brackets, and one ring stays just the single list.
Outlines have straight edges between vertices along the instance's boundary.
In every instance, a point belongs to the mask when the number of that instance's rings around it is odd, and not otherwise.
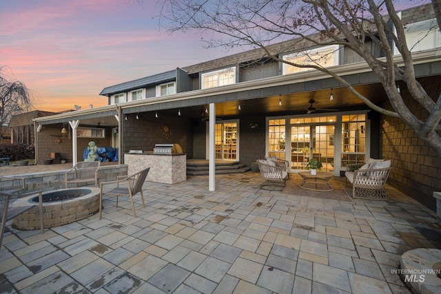
[{"label": "brown shingle-clad wall at far right behind the tree trunk", "polygon": [[[420,83],[431,97],[438,98],[441,76],[424,78]],[[413,114],[427,118],[427,112],[407,90],[401,94]],[[390,159],[393,167],[389,184],[435,209],[432,196],[433,191],[441,191],[441,159],[400,118],[381,116],[380,131],[382,158]]]}]

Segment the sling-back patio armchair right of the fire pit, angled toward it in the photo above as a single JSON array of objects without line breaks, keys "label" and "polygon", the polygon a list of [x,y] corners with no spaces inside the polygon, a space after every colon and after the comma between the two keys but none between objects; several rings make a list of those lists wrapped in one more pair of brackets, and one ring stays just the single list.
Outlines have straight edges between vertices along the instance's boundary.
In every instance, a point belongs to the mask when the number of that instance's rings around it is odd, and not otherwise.
[{"label": "sling-back patio armchair right of the fire pit, angled toward it", "polygon": [[[141,194],[141,200],[143,201],[143,207],[145,207],[144,196],[143,196],[143,184],[147,174],[150,171],[150,167],[143,169],[132,176],[121,176],[118,180],[110,182],[101,182],[100,192],[99,192],[99,219],[101,220],[101,210],[103,209],[103,196],[116,196],[116,207],[118,207],[118,197],[128,197],[132,203],[133,216],[136,218],[136,211],[133,202],[133,196],[137,193]],[[125,185],[120,186],[125,183]],[[116,185],[113,189],[109,191],[103,191],[105,185]]]}]

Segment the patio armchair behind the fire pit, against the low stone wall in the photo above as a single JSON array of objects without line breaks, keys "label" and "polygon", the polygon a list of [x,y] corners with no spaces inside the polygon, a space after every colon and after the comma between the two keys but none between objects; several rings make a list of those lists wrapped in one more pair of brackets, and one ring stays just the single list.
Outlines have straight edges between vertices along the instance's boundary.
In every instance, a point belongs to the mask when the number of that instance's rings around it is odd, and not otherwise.
[{"label": "patio armchair behind the fire pit, against the low stone wall", "polygon": [[98,171],[100,167],[99,161],[82,161],[78,162],[72,169],[68,170],[64,174],[65,188],[68,188],[69,183],[76,184],[76,187],[80,183],[95,182],[95,187],[98,186]]}]

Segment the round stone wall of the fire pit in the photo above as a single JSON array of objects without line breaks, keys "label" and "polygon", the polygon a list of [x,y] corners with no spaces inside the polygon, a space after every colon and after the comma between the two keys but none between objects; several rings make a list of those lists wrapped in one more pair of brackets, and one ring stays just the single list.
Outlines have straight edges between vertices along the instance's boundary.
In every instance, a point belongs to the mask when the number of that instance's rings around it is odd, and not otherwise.
[{"label": "round stone wall of the fire pit", "polygon": [[[52,228],[62,226],[63,224],[70,224],[77,220],[83,220],[88,218],[99,211],[99,189],[98,188],[72,188],[72,189],[60,189],[54,191],[48,191],[45,194],[54,193],[55,191],[64,192],[66,190],[75,193],[75,190],[90,190],[90,193],[80,197],[54,201],[43,202],[43,220],[45,228]],[[34,198],[32,196],[28,200]],[[40,229],[40,210],[37,201],[37,205],[14,218],[12,227],[20,230],[37,230]]]}]

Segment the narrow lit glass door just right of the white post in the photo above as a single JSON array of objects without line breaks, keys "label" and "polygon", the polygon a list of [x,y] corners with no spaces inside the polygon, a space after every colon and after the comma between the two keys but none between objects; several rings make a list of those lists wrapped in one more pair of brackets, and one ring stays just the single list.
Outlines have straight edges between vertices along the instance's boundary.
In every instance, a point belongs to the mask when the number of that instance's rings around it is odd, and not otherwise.
[{"label": "narrow lit glass door just right of the white post", "polygon": [[214,146],[216,159],[238,160],[238,123],[216,123]]}]

